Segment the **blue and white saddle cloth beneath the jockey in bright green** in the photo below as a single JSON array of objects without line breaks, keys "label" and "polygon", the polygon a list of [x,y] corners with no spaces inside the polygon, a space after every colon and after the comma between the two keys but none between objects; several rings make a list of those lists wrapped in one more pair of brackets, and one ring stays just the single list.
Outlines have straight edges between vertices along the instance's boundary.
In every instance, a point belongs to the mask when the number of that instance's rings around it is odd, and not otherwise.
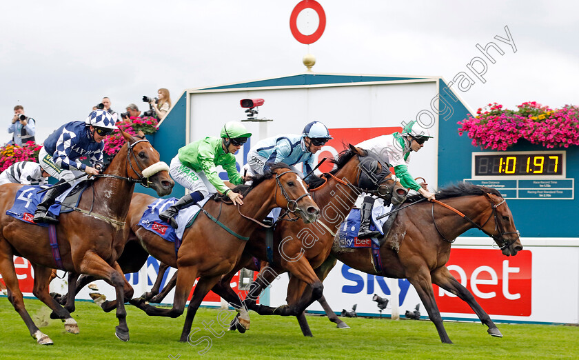
[{"label": "blue and white saddle cloth beneath the jockey in bright green", "polygon": [[176,229],[172,228],[167,222],[161,220],[159,214],[172,206],[179,199],[174,197],[169,199],[156,199],[147,207],[147,210],[145,210],[137,225],[154,232],[159,235],[159,237],[172,243],[174,243],[176,239],[180,242],[183,239],[183,232],[185,232],[185,229],[191,226],[192,220],[209,199],[209,197],[206,197],[192,206],[181,209],[175,217],[175,221],[177,221],[177,225],[179,226]]}]

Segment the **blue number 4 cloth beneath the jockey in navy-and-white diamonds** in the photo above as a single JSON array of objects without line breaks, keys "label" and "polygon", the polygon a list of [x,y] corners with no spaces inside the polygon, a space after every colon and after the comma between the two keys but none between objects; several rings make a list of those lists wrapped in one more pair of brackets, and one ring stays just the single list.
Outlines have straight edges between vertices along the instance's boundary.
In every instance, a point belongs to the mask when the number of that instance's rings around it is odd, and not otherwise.
[{"label": "blue number 4 cloth beneath the jockey in navy-and-white diamonds", "polygon": [[[38,193],[39,190],[42,190],[41,186],[34,185],[34,186],[23,186],[16,192],[16,199],[14,199],[14,205],[10,210],[6,210],[6,214],[10,217],[14,217],[14,219],[19,219],[26,223],[33,223],[34,225],[38,226],[48,226],[48,223],[35,223],[32,221],[34,218],[34,211],[38,204],[44,199],[44,195],[46,192]],[[72,208],[61,208],[61,203],[67,197],[67,195],[72,192],[72,189],[68,189],[67,191],[63,192],[57,200],[54,201],[54,204],[50,206],[48,209],[54,216],[59,216],[61,213],[71,212]],[[77,203],[75,206],[79,205],[80,196],[77,199]]]}]

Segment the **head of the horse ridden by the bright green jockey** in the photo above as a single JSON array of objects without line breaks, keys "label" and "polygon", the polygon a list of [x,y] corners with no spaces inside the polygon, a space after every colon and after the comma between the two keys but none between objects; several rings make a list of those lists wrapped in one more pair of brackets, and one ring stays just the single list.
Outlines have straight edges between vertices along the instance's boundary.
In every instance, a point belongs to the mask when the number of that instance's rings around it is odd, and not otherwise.
[{"label": "head of the horse ridden by the bright green jockey", "polygon": [[312,195],[307,192],[303,179],[285,163],[272,166],[271,172],[276,180],[277,206],[298,214],[304,223],[316,221],[320,216],[320,209],[312,199]]}]

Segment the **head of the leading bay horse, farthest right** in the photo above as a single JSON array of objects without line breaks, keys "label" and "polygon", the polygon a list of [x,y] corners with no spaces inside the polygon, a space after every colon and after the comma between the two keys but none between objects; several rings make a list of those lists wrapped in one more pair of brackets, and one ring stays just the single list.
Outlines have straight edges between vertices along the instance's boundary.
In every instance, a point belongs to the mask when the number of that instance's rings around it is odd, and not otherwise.
[{"label": "head of the leading bay horse, farthest right", "polygon": [[522,250],[522,244],[520,243],[520,233],[515,227],[513,214],[509,206],[507,206],[507,200],[489,192],[485,192],[485,197],[491,203],[491,217],[494,217],[494,224],[491,221],[487,221],[482,226],[482,230],[485,230],[493,237],[500,250],[502,250],[502,254],[507,257],[515,256],[517,252]]}]

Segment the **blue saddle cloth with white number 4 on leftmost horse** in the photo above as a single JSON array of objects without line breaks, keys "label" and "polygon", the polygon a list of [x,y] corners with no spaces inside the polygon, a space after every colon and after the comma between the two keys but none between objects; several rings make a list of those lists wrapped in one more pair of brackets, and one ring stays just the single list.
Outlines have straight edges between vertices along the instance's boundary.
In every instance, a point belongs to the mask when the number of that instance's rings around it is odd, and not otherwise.
[{"label": "blue saddle cloth with white number 4 on leftmost horse", "polygon": [[[55,217],[59,214],[65,212],[72,212],[72,208],[79,205],[81,199],[81,194],[87,188],[89,181],[81,181],[74,186],[63,192],[59,197],[57,197],[54,204],[48,209]],[[38,193],[39,190],[43,190],[41,186],[23,186],[16,193],[16,199],[14,199],[14,205],[10,210],[6,211],[6,214],[19,219],[26,223],[33,223],[38,226],[48,226],[48,223],[35,223],[32,221],[34,217],[34,210],[36,210],[38,204],[44,198],[46,192]]]}]

